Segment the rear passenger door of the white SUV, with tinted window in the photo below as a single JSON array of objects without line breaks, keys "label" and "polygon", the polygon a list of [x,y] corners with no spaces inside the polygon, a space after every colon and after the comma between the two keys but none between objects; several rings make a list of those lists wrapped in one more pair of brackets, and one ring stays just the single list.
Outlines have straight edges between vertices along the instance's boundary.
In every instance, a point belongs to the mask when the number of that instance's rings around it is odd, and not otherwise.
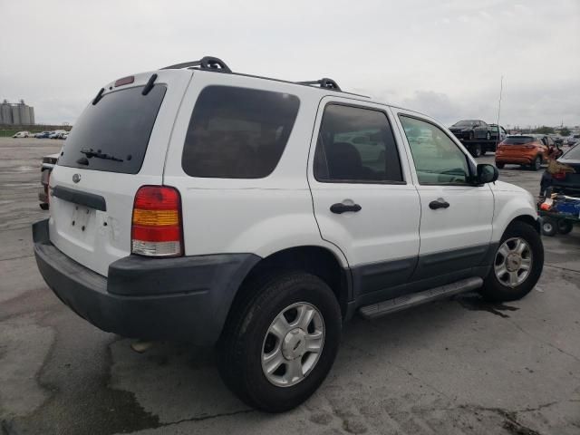
[{"label": "rear passenger door of the white SUV, with tinted window", "polygon": [[419,195],[390,117],[378,104],[327,97],[314,126],[314,214],[322,237],[348,259],[357,297],[389,297],[386,290],[411,277],[419,253]]}]

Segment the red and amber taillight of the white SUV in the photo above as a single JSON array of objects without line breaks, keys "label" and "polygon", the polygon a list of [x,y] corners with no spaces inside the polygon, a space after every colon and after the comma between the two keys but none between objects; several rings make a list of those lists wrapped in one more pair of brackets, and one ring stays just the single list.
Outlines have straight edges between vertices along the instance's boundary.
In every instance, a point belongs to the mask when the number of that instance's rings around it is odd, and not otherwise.
[{"label": "red and amber taillight of the white SUV", "polygon": [[166,186],[143,186],[135,194],[131,253],[140,256],[182,256],[181,198]]}]

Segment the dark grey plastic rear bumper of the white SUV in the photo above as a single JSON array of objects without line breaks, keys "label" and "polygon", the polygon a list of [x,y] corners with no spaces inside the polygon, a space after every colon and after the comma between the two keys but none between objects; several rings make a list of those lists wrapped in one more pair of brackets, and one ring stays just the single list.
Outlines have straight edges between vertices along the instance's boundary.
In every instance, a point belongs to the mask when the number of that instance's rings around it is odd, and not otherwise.
[{"label": "dark grey plastic rear bumper of the white SUV", "polygon": [[34,256],[64,304],[103,331],[150,340],[216,343],[253,254],[151,259],[128,256],[105,277],[53,246],[48,220],[33,226]]}]

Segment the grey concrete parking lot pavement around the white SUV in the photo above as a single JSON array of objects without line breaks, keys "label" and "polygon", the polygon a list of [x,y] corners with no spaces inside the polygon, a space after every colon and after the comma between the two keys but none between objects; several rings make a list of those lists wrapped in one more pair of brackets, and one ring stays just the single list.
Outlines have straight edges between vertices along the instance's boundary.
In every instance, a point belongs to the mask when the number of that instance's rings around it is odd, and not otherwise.
[{"label": "grey concrete parking lot pavement around the white SUV", "polygon": [[[3,434],[580,433],[580,228],[544,237],[521,301],[456,296],[346,325],[323,386],[295,411],[248,409],[211,350],[103,333],[44,285],[31,229],[40,160],[63,141],[0,138],[0,427]],[[493,156],[481,157],[493,162]],[[500,179],[535,195],[542,171]]]}]

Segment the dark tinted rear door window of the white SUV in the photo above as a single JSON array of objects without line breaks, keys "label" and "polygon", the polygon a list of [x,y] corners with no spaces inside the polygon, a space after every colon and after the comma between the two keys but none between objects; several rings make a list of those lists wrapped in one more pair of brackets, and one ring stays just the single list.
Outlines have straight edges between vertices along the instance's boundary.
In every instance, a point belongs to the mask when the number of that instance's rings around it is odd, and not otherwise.
[{"label": "dark tinted rear door window of the white SUV", "polygon": [[329,104],[314,153],[314,178],[323,182],[401,183],[401,163],[382,111]]}]

